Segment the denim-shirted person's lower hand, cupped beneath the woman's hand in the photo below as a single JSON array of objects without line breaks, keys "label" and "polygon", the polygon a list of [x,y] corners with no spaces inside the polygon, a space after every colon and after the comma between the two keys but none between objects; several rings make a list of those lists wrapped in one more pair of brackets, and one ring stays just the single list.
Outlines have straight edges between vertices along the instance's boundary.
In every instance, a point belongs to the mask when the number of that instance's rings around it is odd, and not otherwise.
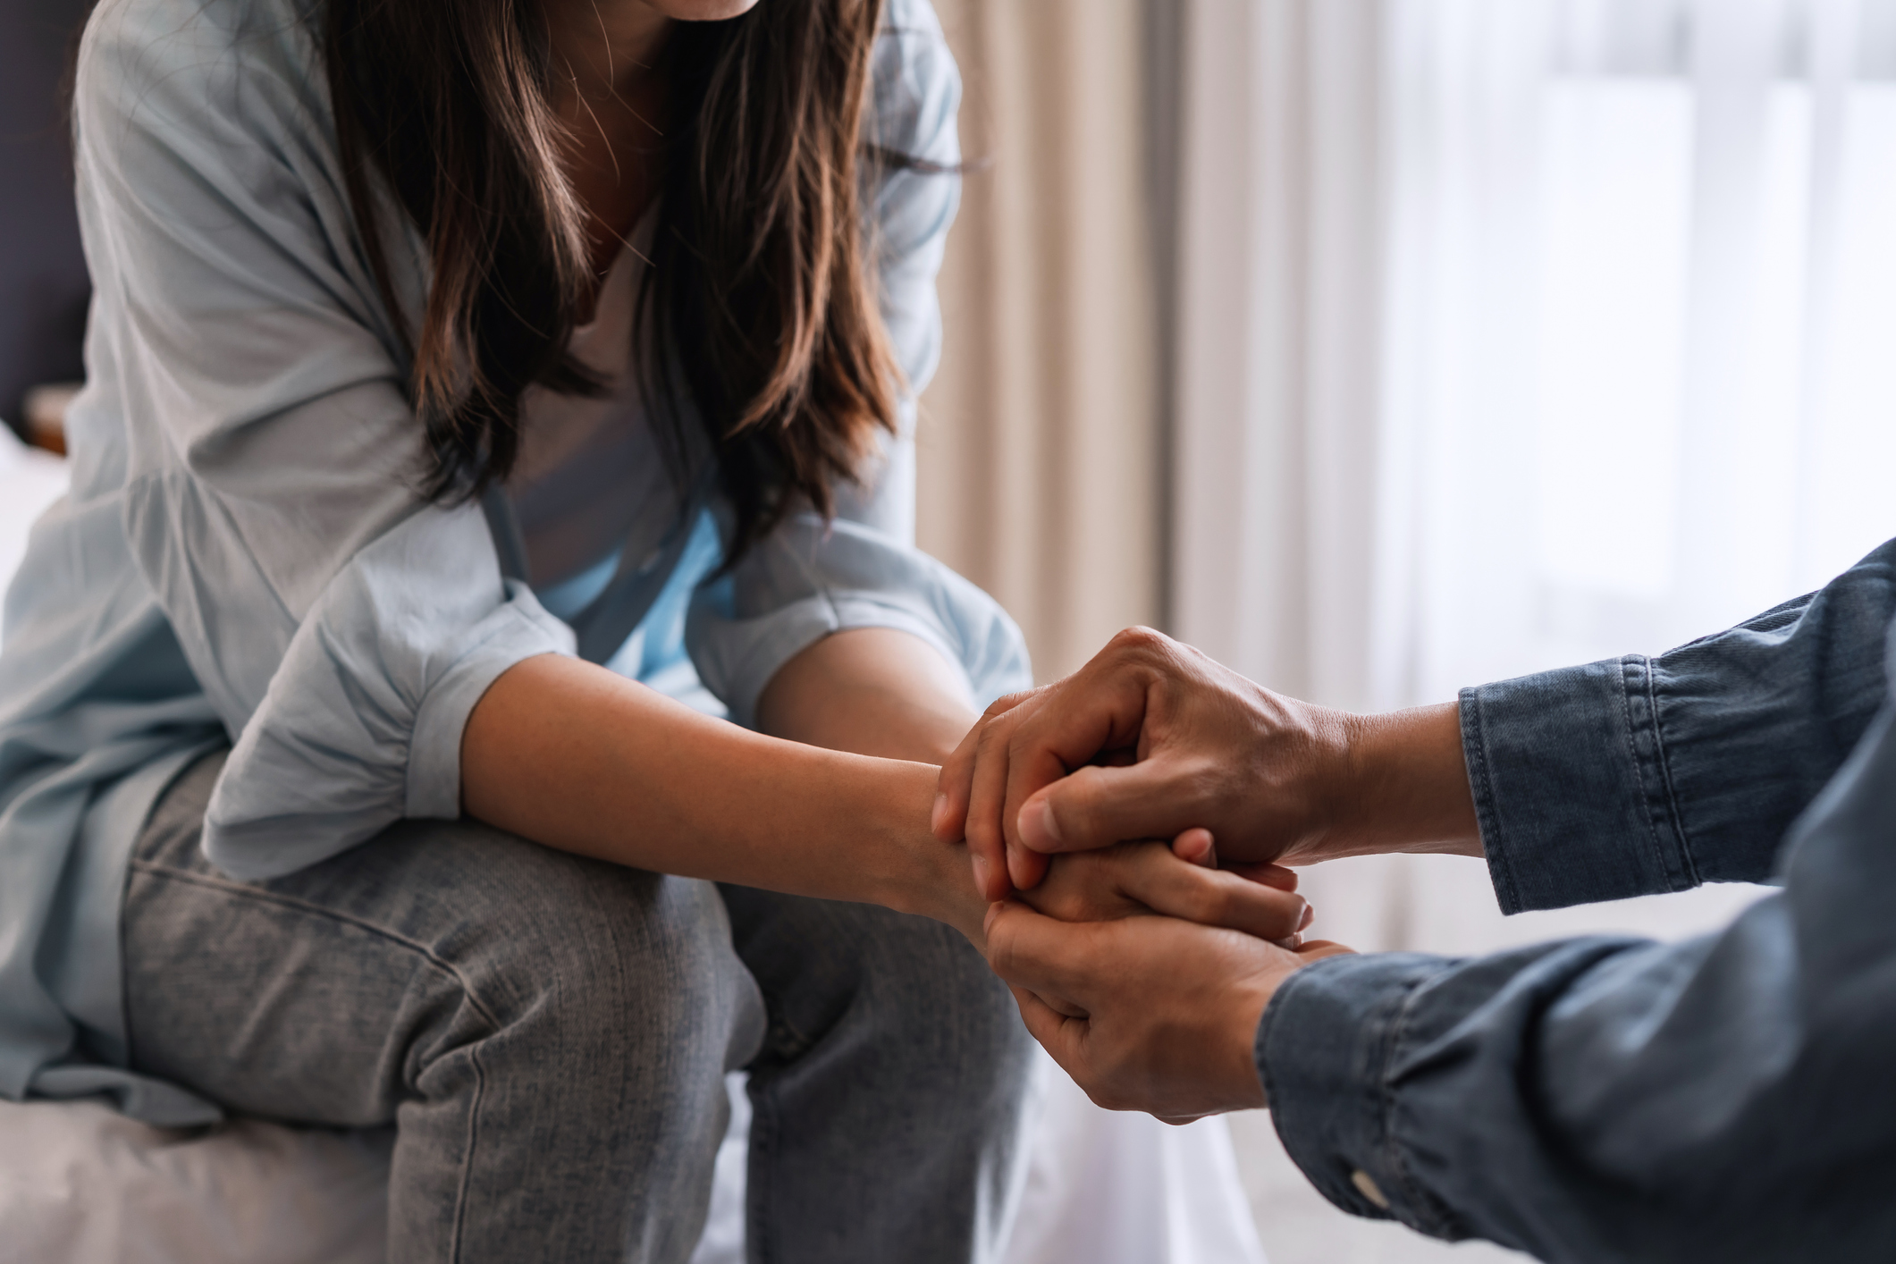
[{"label": "denim-shirted person's lower hand, cupped beneath the woman's hand", "polygon": [[1168,1124],[1267,1105],[1253,1056],[1265,1006],[1295,970],[1350,951],[1174,917],[1064,923],[1012,900],[988,910],[986,938],[1028,1031],[1073,1082],[1107,1111]]}]

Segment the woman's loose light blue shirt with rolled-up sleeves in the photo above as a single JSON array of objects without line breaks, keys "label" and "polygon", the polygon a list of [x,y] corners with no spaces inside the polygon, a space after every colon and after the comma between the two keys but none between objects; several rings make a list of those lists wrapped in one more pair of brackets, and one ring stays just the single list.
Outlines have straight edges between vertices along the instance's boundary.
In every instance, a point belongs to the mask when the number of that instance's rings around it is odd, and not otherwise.
[{"label": "woman's loose light blue shirt with rolled-up sleeves", "polygon": [[[523,582],[504,497],[417,493],[423,434],[349,214],[307,0],[106,0],[80,51],[78,201],[95,299],[72,491],[34,527],[0,648],[0,1095],[216,1109],[123,1069],[118,908],[154,800],[231,745],[205,851],[294,872],[461,811],[461,731],[537,654],[584,654],[749,722],[846,627],[901,627],[990,697],[1028,682],[1009,618],[910,544],[914,404],[842,517],[794,515],[734,572],[709,479],[635,527],[592,589]],[[876,140],[956,163],[959,78],[925,0],[876,49]],[[957,182],[874,190],[884,318],[935,370]],[[411,311],[419,239],[392,241]],[[586,576],[578,576],[586,578]],[[559,599],[565,599],[563,603]]]}]

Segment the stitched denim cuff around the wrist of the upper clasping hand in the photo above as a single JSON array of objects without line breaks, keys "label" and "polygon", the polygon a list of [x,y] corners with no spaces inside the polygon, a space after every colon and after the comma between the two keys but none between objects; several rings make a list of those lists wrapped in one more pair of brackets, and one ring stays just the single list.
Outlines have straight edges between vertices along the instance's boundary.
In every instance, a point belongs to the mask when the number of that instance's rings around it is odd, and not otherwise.
[{"label": "stitched denim cuff around the wrist of the upper clasping hand", "polygon": [[1462,752],[1504,913],[1699,885],[1644,656],[1462,690]]}]

